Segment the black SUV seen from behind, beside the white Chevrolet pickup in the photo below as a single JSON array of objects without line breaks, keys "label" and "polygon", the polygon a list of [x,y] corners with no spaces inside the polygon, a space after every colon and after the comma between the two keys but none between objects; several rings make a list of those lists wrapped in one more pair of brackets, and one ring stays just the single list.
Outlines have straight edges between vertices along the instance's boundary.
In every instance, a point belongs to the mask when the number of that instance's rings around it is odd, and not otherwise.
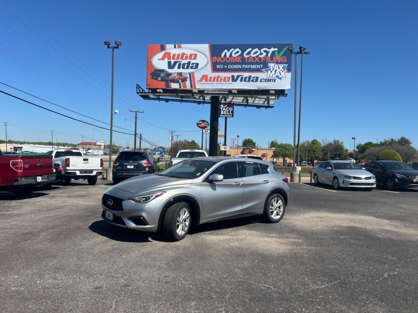
[{"label": "black SUV seen from behind, beside the white Chevrolet pickup", "polygon": [[121,151],[113,162],[113,183],[118,184],[127,178],[160,172],[159,162],[147,151]]}]

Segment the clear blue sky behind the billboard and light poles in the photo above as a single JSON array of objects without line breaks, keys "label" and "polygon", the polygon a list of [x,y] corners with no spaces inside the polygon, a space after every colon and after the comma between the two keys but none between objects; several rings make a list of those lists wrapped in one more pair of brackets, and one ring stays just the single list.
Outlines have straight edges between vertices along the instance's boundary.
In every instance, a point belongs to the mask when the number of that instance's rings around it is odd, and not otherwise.
[{"label": "clear blue sky behind the billboard and light poles", "polygon": [[[133,123],[124,121],[133,120],[128,110],[144,110],[140,118],[149,124],[139,120],[138,133],[156,144],[169,146],[168,132],[150,124],[194,131],[196,121],[209,120],[209,105],[142,100],[135,86],[145,88],[148,44],[294,43],[311,51],[303,63],[301,141],[339,139],[349,148],[353,136],[356,143],[406,136],[418,146],[414,1],[12,1],[89,69],[9,0],[0,0],[0,81],[109,122],[111,50],[103,41],[122,41],[115,51],[114,107],[120,114],[114,124],[133,130]],[[1,84],[0,90],[106,126]],[[292,143],[293,92],[276,101],[274,109],[236,108],[228,120],[228,142],[240,135],[240,141],[252,138],[263,147],[271,139]],[[92,140],[93,126],[3,94],[0,106],[0,122],[10,125],[9,139],[48,141],[54,130],[54,141],[78,143],[82,135]],[[223,131],[223,119],[220,126]],[[200,142],[199,131],[177,134]],[[133,145],[133,136],[115,133],[113,138],[116,144]],[[94,140],[100,139],[108,142],[109,131],[95,129]]]}]

